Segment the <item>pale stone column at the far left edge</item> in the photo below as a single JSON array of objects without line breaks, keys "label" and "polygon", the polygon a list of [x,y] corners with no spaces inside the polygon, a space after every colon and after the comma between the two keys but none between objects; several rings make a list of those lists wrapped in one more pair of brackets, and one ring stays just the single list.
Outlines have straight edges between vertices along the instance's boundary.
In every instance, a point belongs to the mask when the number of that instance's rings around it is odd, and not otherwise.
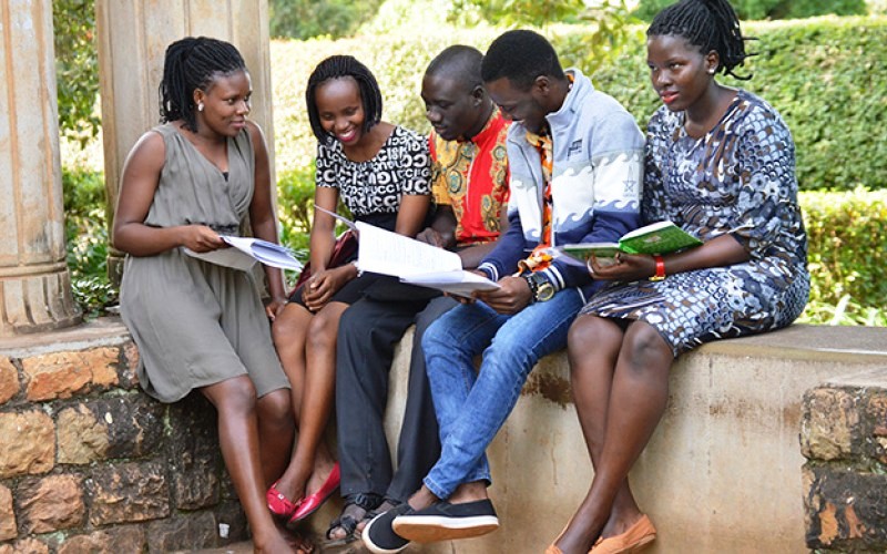
[{"label": "pale stone column at the far left edge", "polygon": [[80,321],[65,264],[51,0],[0,0],[0,337]]}]

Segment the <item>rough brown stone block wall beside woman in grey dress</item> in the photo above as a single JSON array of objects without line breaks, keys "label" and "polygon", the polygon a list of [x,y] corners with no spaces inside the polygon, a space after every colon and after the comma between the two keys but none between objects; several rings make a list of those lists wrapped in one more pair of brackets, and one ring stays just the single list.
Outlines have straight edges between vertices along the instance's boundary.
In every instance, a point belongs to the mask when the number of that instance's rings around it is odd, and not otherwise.
[{"label": "rough brown stone block wall beside woman in grey dress", "polygon": [[246,537],[213,407],[200,394],[152,400],[136,362],[115,320],[0,343],[0,554]]}]

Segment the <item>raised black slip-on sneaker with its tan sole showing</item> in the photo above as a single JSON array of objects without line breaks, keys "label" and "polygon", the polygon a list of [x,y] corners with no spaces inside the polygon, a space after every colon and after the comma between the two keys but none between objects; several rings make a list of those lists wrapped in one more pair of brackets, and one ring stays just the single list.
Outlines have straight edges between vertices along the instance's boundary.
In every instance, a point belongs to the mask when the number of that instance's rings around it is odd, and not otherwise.
[{"label": "raised black slip-on sneaker with its tan sole showing", "polygon": [[489,500],[450,504],[438,502],[425,510],[398,515],[395,533],[417,543],[434,543],[486,535],[499,529],[499,517]]}]

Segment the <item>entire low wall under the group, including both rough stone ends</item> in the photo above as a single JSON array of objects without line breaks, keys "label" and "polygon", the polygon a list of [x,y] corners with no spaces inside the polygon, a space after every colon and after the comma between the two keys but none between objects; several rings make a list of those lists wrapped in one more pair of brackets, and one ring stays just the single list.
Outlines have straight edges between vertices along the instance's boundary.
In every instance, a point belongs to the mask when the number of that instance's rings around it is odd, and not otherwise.
[{"label": "entire low wall under the group, including both rough stone ends", "polygon": [[[410,338],[391,368],[391,438]],[[213,408],[151,400],[136,357],[114,319],[0,342],[0,554],[245,538]],[[592,476],[563,353],[534,369],[488,453],[501,529],[415,552],[529,554],[563,527]],[[887,329],[793,326],[682,357],[631,480],[659,529],[650,554],[883,553],[886,470]],[[320,535],[339,509],[308,529]]]}]

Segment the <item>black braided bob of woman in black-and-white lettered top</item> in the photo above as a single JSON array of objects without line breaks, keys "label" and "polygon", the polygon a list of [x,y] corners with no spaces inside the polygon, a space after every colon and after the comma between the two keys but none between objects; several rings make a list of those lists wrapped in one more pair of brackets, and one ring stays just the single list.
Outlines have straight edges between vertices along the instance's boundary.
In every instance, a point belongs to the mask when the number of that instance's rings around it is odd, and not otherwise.
[{"label": "black braided bob of woman in black-and-white lettered top", "polygon": [[308,88],[305,90],[308,120],[312,123],[314,136],[320,142],[326,142],[332,137],[320,125],[320,115],[317,113],[317,102],[315,101],[317,89],[332,79],[347,76],[357,81],[357,88],[360,91],[360,102],[364,104],[363,132],[368,133],[381,121],[381,91],[373,72],[353,55],[330,55],[314,68],[308,78]]}]

